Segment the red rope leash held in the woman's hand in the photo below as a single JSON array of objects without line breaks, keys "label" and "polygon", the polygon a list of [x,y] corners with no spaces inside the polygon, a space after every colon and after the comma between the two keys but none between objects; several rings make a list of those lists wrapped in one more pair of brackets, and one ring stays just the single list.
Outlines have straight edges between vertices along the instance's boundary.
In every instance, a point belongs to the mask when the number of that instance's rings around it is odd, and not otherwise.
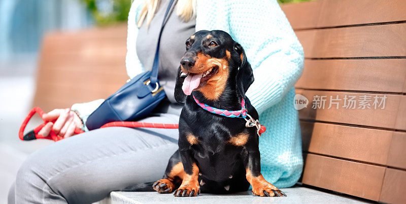
[{"label": "red rope leash held in the woman's hand", "polygon": [[[24,135],[24,130],[25,127],[27,126],[29,120],[31,117],[35,114],[38,113],[42,120],[44,121],[43,124],[39,125],[37,128],[34,130],[28,132],[27,134]],[[47,121],[45,120],[42,115],[44,114],[44,111],[40,107],[34,107],[32,110],[28,113],[27,117],[24,119],[23,123],[21,124],[20,131],[18,132],[18,137],[21,140],[35,140],[35,139],[48,139],[48,140],[53,140],[53,141],[58,141],[63,139],[63,137],[56,135],[53,130],[49,132],[49,135],[47,137],[44,137],[43,135],[38,134],[40,130],[49,122],[55,123],[56,119]],[[117,121],[117,122],[112,122],[105,124],[104,126],[101,126],[100,128],[107,128],[107,127],[127,127],[127,128],[165,128],[165,129],[178,129],[179,125],[178,124],[158,124],[158,123],[144,123],[144,122],[126,122],[126,121]],[[75,129],[75,134],[80,134],[83,133],[84,131],[81,129]]]}]

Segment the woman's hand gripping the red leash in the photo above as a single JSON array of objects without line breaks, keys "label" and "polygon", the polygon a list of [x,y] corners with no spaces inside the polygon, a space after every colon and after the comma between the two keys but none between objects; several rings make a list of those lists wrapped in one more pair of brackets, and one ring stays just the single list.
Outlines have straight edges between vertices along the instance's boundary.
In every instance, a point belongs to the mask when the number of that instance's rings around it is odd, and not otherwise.
[{"label": "woman's hand gripping the red leash", "polygon": [[69,108],[54,109],[44,113],[42,117],[48,121],[56,119],[55,124],[52,122],[47,123],[38,133],[44,137],[48,136],[51,130],[61,137],[71,137],[75,134],[75,129],[82,126],[82,120]]}]

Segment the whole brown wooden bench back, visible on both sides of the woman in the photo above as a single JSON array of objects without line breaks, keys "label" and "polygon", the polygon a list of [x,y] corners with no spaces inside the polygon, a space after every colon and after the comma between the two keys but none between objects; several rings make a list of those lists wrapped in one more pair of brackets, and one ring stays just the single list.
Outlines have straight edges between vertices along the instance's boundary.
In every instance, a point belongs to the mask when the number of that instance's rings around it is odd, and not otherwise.
[{"label": "whole brown wooden bench back, visible on both sides of the woman", "polygon": [[[406,202],[405,8],[404,0],[282,6],[306,57],[295,86],[309,100],[299,111],[304,184]],[[106,98],[127,79],[125,53],[125,25],[47,35],[34,105],[51,110]],[[324,109],[312,109],[316,95],[327,96]],[[327,108],[329,96],[346,95],[387,99],[384,109]]]}]

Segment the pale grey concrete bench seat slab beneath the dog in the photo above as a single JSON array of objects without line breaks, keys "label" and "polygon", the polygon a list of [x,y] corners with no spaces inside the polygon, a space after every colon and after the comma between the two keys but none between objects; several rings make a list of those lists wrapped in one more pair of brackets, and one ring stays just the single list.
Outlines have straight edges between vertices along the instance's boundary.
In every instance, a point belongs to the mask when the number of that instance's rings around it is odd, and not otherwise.
[{"label": "pale grey concrete bench seat slab beneath the dog", "polygon": [[287,194],[287,197],[258,197],[253,196],[249,191],[226,195],[200,194],[196,197],[174,197],[172,193],[113,191],[110,193],[110,197],[101,203],[362,203],[362,201],[348,196],[306,187],[282,188],[281,190]]}]

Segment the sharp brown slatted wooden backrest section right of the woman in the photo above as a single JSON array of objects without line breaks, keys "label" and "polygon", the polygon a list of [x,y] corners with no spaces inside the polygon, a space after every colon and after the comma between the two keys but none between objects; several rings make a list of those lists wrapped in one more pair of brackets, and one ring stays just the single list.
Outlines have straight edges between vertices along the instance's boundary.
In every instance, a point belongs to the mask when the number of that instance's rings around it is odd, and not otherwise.
[{"label": "sharp brown slatted wooden backrest section right of the woman", "polygon": [[[295,85],[309,100],[299,110],[302,182],[406,202],[406,1],[321,0],[282,9],[305,56]],[[324,109],[312,108],[317,96],[326,96]],[[331,100],[338,109],[328,108],[330,96],[341,99]],[[371,99],[370,109],[343,107],[346,96]],[[375,97],[386,97],[384,109],[375,109]]]}]

